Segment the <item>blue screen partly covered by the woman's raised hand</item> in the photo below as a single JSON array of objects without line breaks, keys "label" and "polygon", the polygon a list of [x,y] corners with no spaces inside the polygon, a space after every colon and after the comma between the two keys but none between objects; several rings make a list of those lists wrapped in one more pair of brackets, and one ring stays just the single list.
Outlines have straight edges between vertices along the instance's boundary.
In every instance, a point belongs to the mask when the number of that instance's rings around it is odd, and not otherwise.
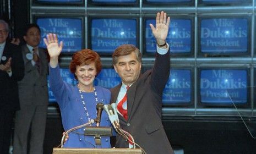
[{"label": "blue screen partly covered by the woman's raised hand", "polygon": [[[36,23],[40,26],[41,37],[46,38],[48,33],[55,33],[59,41],[63,41],[62,52],[75,52],[81,50],[82,20],[78,18],[37,18]],[[41,39],[40,47],[45,47]]]}]

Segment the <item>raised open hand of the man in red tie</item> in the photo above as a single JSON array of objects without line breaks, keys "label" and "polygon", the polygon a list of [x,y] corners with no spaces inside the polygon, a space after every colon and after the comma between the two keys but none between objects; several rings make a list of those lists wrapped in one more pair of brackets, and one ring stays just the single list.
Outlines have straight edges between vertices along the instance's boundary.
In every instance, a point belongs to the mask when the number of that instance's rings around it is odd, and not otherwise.
[{"label": "raised open hand of the man in red tie", "polygon": [[167,15],[164,11],[156,14],[156,27],[149,24],[156,38],[156,43],[158,45],[164,45],[166,42],[166,37],[168,35],[168,29],[170,24],[170,17],[167,18]]}]

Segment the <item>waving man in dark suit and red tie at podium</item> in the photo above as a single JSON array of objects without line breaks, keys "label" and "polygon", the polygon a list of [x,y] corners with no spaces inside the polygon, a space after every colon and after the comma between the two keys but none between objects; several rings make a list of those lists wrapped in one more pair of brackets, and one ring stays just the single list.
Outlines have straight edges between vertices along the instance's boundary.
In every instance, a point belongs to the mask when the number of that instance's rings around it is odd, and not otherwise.
[{"label": "waving man in dark suit and red tie at podium", "polygon": [[[170,17],[164,12],[157,13],[156,27],[150,24],[157,53],[154,66],[144,74],[140,74],[141,53],[133,45],[119,46],[112,56],[122,83],[111,89],[111,102],[117,103],[121,128],[148,154],[173,153],[161,123],[162,92],[170,73],[166,43],[169,24]],[[117,134],[116,147],[132,147],[132,144]]]}]

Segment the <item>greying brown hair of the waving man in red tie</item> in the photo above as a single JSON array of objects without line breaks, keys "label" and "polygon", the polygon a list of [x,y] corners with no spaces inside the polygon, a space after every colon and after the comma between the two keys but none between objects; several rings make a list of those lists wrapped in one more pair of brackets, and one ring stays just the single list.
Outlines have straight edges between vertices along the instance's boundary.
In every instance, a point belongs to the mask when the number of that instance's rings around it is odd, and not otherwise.
[{"label": "greying brown hair of the waving man in red tie", "polygon": [[119,56],[127,56],[128,54],[131,54],[133,52],[136,54],[137,60],[141,63],[141,53],[139,49],[134,45],[124,44],[117,47],[114,53],[112,54],[113,64],[115,65],[117,63],[117,58]]}]

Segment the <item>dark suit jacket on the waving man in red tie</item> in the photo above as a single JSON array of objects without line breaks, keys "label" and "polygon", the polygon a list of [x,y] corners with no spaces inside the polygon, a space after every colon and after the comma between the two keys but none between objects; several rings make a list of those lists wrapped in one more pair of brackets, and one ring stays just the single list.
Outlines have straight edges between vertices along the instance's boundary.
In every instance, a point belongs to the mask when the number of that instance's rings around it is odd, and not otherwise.
[{"label": "dark suit jacket on the waving man in red tie", "polygon": [[[148,154],[173,153],[161,122],[162,92],[169,73],[170,52],[157,53],[154,67],[140,74],[127,91],[128,120],[118,114],[121,128],[132,134],[134,141]],[[111,89],[111,102],[116,102],[121,85]],[[119,134],[116,147],[128,147],[128,142]]]}]

